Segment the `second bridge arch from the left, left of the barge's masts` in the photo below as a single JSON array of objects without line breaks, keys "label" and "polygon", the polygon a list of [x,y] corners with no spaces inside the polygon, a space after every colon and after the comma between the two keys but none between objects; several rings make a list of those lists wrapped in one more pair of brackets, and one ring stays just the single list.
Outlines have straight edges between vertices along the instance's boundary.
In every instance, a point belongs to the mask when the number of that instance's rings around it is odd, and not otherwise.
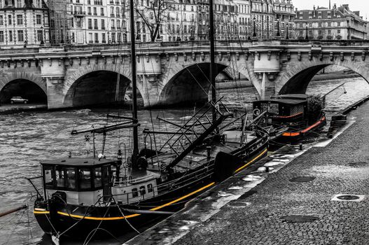
[{"label": "second bridge arch from the left, left of the barge's masts", "polygon": [[120,66],[87,66],[77,70],[64,82],[63,105],[78,107],[124,102],[130,85],[128,77],[130,71]]}]

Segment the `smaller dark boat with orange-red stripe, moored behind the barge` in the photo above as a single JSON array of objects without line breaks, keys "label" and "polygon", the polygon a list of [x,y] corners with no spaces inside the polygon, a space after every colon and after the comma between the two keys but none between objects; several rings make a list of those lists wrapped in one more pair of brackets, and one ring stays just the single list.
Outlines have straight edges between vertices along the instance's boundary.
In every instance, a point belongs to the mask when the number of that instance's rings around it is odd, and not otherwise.
[{"label": "smaller dark boat with orange-red stripe, moored behind the barge", "polygon": [[[308,104],[309,97],[306,94],[276,95],[271,99],[253,102],[253,116],[265,112],[263,126],[274,127],[278,132],[272,141],[293,143],[326,125],[323,111],[312,113]],[[287,130],[281,130],[283,127],[287,127]]]}]

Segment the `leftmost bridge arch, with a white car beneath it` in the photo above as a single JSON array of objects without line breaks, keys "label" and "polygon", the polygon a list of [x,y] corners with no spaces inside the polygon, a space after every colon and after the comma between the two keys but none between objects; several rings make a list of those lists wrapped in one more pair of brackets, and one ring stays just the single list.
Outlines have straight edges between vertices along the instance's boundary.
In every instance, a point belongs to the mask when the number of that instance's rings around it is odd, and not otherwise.
[{"label": "leftmost bridge arch, with a white car beneath it", "polygon": [[8,73],[0,80],[0,103],[9,103],[14,96],[29,99],[29,103],[47,104],[46,83],[34,73]]}]

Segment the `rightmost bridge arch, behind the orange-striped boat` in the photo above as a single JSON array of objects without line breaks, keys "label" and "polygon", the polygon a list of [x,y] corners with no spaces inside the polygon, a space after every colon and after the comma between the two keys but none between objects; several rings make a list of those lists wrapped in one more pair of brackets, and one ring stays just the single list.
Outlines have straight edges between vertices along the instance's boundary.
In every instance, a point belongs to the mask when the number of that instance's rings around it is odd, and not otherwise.
[{"label": "rightmost bridge arch, behind the orange-striped boat", "polygon": [[305,94],[307,86],[316,73],[329,65],[337,65],[350,69],[358,73],[358,75],[369,83],[369,64],[365,64],[365,62],[353,62],[351,59],[344,59],[342,61],[338,57],[332,61],[329,58],[322,60],[314,58],[310,61],[291,62],[291,64],[288,64],[284,75],[275,82],[276,94]]}]

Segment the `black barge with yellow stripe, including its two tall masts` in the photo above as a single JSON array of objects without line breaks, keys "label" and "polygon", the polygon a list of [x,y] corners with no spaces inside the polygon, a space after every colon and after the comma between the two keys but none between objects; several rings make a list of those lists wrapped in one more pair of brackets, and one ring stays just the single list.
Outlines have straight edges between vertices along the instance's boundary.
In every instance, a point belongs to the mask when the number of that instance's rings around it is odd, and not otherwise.
[{"label": "black barge with yellow stripe, including its two tall masts", "polygon": [[[133,8],[131,16],[134,16]],[[133,18],[131,29],[134,31]],[[221,99],[216,100],[212,75],[214,34],[210,36],[211,101],[186,118],[183,125],[158,118],[177,130],[145,129],[144,148],[139,151],[136,55],[134,35],[131,35],[133,116],[110,115],[125,121],[71,133],[89,132],[92,139],[95,134],[103,134],[105,142],[107,132],[132,128],[132,151],[118,148],[116,159],[106,159],[103,142],[102,153],[96,155],[94,150],[90,158],[69,154],[66,158],[41,160],[41,176],[29,179],[37,193],[34,216],[55,244],[61,237],[90,241],[132,230],[139,232],[146,224],[174,214],[188,200],[267,155],[267,132],[252,122],[252,126],[246,125],[246,115],[234,117]],[[155,141],[158,134],[168,134],[167,141],[160,146]],[[42,190],[36,188],[34,179],[41,179]]]}]

